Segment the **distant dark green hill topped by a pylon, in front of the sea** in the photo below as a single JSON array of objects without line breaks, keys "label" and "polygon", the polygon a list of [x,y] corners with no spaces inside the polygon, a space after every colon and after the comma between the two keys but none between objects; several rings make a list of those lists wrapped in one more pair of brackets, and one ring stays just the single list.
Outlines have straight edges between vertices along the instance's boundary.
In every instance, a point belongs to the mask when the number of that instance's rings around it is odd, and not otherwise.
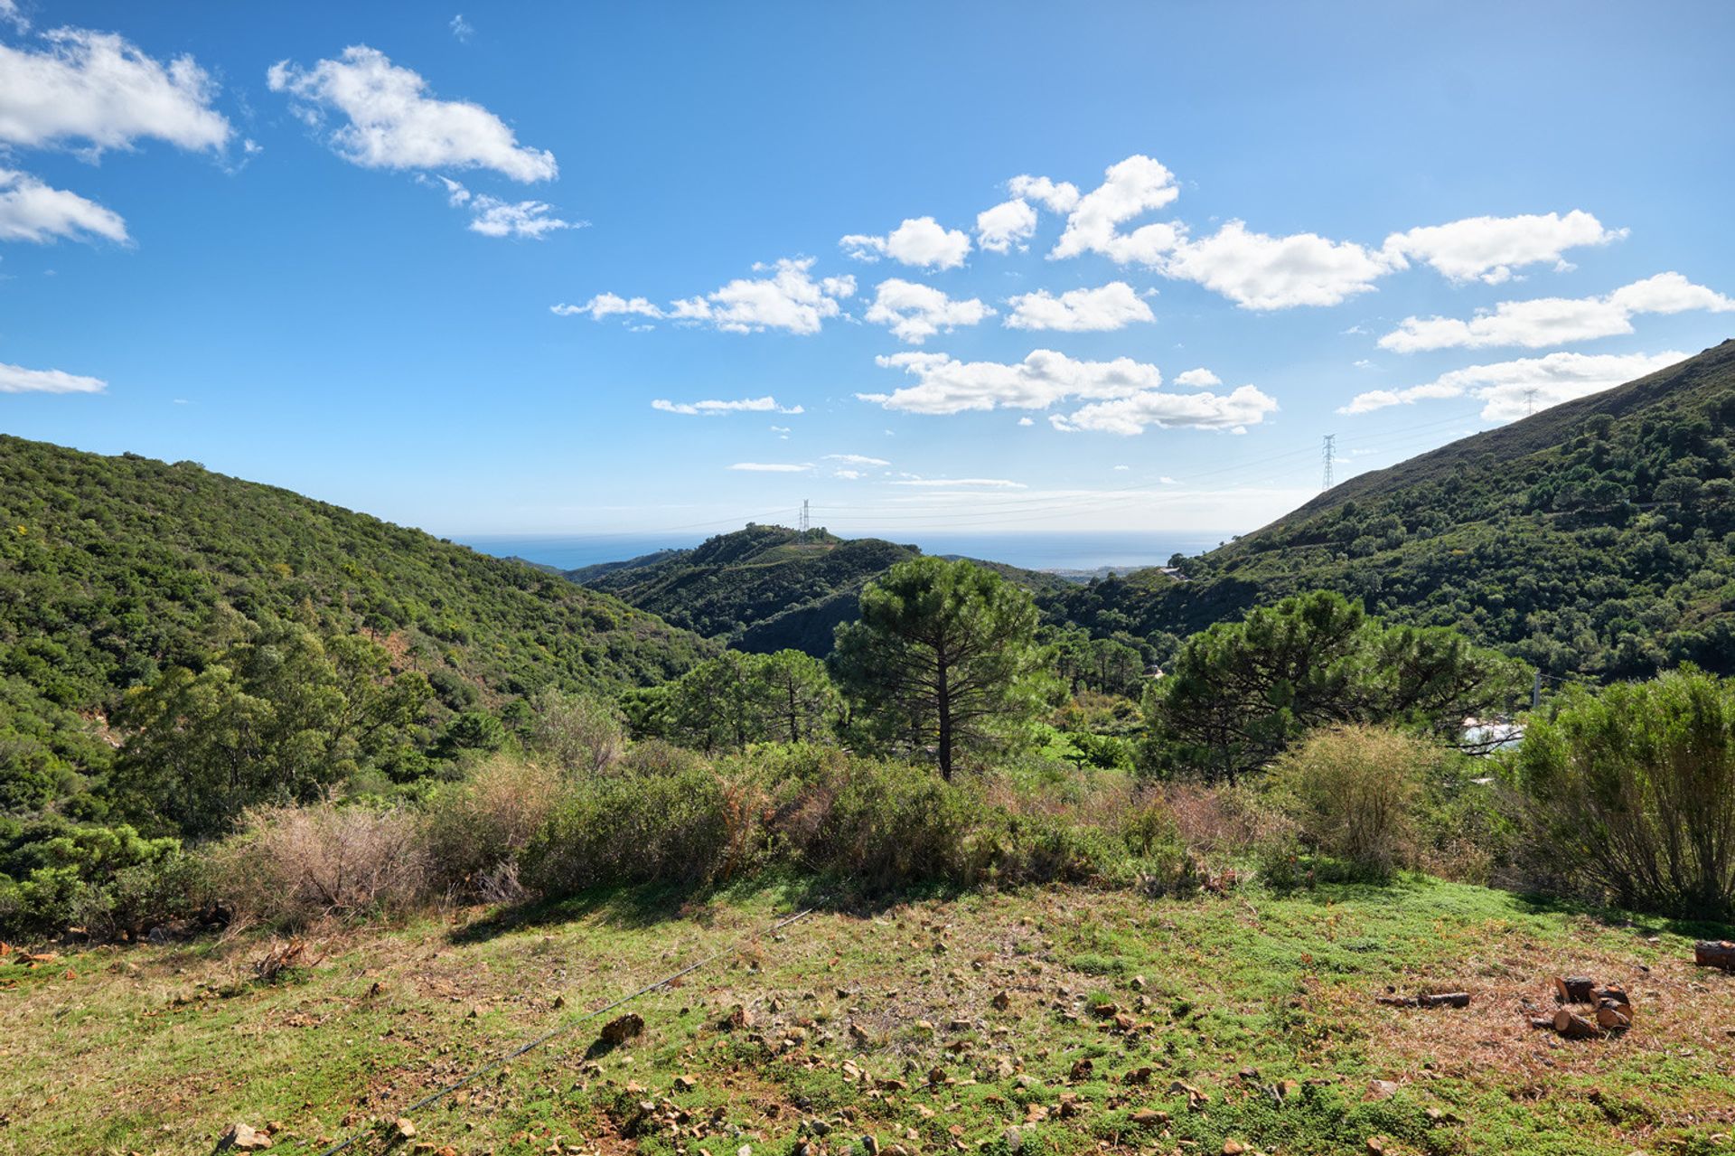
[{"label": "distant dark green hill topped by a pylon, in front of the sea", "polygon": [[[855,618],[862,585],[920,554],[881,538],[753,524],[691,550],[586,566],[567,571],[567,578],[744,651],[798,649],[822,658],[831,653],[838,623]],[[1065,585],[1048,575],[992,566],[1025,587]]]}]

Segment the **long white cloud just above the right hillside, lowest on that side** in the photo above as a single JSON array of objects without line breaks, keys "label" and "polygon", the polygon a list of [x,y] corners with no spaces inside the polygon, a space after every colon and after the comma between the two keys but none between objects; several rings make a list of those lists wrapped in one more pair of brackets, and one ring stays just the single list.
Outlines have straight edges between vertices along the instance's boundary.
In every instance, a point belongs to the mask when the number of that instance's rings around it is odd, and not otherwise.
[{"label": "long white cloud just above the right hillside, lowest on that side", "polygon": [[1482,417],[1489,422],[1511,422],[1535,410],[1598,394],[1634,378],[1655,373],[1685,359],[1688,354],[1667,351],[1660,354],[1577,354],[1553,352],[1546,358],[1518,358],[1473,365],[1442,373],[1431,382],[1409,389],[1372,389],[1357,394],[1338,413],[1371,413],[1386,406],[1414,404],[1440,397],[1471,396],[1483,401]]}]

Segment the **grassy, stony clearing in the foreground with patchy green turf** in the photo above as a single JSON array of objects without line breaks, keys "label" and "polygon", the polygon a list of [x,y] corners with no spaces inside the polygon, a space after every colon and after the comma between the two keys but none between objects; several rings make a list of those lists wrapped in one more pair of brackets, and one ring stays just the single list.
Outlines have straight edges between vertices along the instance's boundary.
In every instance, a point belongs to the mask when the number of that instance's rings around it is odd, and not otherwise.
[{"label": "grassy, stony clearing in the foreground with patchy green turf", "polygon": [[[279,1125],[274,1153],[318,1151],[796,903],[470,910],[335,934],[272,986],[250,982],[269,944],[245,937],[0,967],[0,1151],[206,1153],[236,1120]],[[403,1149],[1709,1153],[1735,1130],[1735,977],[1692,967],[1683,930],[1433,880],[826,911],[635,1003],[626,1047],[586,1055],[590,1024],[423,1111]],[[1626,982],[1633,1031],[1532,1031],[1527,1003],[1551,1008],[1563,970]],[[1386,986],[1473,1003],[1376,1007]],[[751,1026],[725,1026],[736,1005]],[[385,1149],[382,1132],[356,1151]]]}]

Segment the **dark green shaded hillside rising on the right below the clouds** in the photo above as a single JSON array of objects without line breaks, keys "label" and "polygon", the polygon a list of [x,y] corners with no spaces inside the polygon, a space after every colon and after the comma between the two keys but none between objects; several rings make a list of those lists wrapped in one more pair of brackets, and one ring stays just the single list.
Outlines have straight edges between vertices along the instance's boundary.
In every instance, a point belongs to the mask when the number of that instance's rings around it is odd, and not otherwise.
[{"label": "dark green shaded hillside rising on the right below the clouds", "polygon": [[[1183,581],[1088,583],[1050,613],[1185,635],[1306,588],[1457,627],[1553,675],[1735,670],[1735,340],[1353,477]],[[1100,627],[1093,627],[1102,630]]]}]

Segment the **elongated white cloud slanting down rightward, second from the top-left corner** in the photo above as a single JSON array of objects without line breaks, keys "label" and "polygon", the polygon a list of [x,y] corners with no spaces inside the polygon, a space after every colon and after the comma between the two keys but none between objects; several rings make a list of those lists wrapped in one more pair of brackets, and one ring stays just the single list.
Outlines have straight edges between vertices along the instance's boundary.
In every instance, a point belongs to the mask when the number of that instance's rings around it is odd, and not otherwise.
[{"label": "elongated white cloud slanting down rightward, second from the top-left corner", "polygon": [[279,61],[265,82],[272,92],[304,101],[312,123],[326,109],[342,113],[347,123],[331,132],[331,144],[364,168],[491,168],[524,182],[559,175],[553,153],[519,144],[481,104],[429,95],[420,73],[368,45],[350,45],[340,59],[305,69]]}]

